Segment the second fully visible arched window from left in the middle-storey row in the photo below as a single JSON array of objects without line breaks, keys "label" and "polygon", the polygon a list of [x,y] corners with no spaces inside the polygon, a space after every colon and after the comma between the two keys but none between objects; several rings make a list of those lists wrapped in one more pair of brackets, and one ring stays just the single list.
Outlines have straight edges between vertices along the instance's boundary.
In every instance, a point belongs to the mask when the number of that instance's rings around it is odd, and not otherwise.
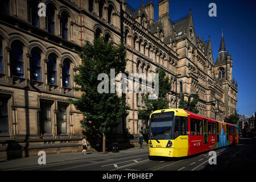
[{"label": "second fully visible arched window from left in the middle-storey row", "polygon": [[31,51],[32,80],[41,80],[41,56],[36,51]]}]

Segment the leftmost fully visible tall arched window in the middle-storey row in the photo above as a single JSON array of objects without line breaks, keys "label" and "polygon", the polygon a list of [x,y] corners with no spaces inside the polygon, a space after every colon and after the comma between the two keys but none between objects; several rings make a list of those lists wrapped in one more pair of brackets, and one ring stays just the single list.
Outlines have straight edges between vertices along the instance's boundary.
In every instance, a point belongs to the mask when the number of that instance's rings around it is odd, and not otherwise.
[{"label": "leftmost fully visible tall arched window in the middle-storey row", "polygon": [[21,46],[14,44],[11,47],[11,64],[12,66],[12,74],[13,76],[18,76],[20,78],[24,78],[23,72],[23,49]]}]

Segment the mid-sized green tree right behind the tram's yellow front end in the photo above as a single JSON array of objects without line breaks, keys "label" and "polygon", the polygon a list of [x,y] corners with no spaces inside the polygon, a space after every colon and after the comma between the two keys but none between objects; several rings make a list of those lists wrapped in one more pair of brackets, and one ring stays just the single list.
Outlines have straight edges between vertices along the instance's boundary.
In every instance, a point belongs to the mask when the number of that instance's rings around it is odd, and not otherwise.
[{"label": "mid-sized green tree right behind the tram's yellow front end", "polygon": [[[159,96],[157,100],[149,100],[148,94],[143,96],[143,101],[145,103],[146,109],[138,110],[138,118],[142,119],[143,126],[141,127],[141,134],[143,138],[148,140],[148,121],[150,119],[150,114],[159,109],[168,109],[167,93],[171,90],[171,81],[166,77],[166,72],[160,69],[159,73]],[[154,85],[154,83],[153,83]]]}]

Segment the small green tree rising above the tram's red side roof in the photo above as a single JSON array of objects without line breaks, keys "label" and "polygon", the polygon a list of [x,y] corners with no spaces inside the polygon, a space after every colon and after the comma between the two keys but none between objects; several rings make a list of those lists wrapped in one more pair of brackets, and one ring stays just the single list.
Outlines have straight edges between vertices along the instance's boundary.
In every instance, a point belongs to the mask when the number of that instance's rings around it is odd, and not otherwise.
[{"label": "small green tree rising above the tram's red side roof", "polygon": [[199,110],[196,107],[196,104],[199,101],[198,94],[190,94],[188,96],[187,101],[184,99],[184,94],[179,94],[179,99],[180,99],[180,102],[179,102],[180,109],[185,109],[185,110],[191,111],[192,113],[196,113],[196,114],[199,113]]}]

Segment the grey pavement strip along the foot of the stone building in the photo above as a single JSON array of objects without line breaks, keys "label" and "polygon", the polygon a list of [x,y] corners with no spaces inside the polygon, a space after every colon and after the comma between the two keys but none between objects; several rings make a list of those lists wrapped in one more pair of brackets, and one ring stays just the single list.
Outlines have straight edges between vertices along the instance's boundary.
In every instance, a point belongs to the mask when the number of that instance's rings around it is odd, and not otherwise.
[{"label": "grey pavement strip along the foot of the stone building", "polygon": [[[131,153],[139,153],[139,152],[148,152],[148,147],[144,146],[141,150],[139,147],[128,148],[124,150],[119,150],[118,152],[86,152],[86,155],[82,155],[81,152],[75,152],[70,154],[57,154],[57,155],[46,155],[46,165],[47,164],[55,164],[55,163],[65,163],[70,161],[79,161],[84,159],[93,159],[102,156],[112,156],[112,155],[123,155],[123,154],[131,154]],[[0,170],[12,169],[19,170],[19,168],[24,167],[33,167],[39,166],[38,159],[40,156],[31,156],[28,158],[20,158],[13,160],[4,160],[0,162]]]}]

